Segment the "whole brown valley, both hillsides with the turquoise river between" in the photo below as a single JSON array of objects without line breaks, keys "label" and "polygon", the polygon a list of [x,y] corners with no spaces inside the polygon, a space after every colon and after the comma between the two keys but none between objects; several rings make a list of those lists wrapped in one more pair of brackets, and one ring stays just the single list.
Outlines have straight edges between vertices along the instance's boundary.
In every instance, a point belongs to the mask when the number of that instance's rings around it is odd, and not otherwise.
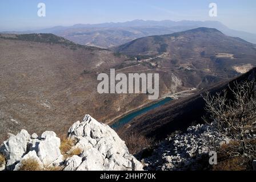
[{"label": "whole brown valley, both hillsides with the turquoise river between", "polygon": [[255,47],[213,28],[139,38],[114,50],[53,34],[1,34],[1,139],[21,129],[60,134],[85,113],[113,123],[157,102],[147,94],[99,94],[97,76],[111,68],[125,75],[159,73],[159,100],[183,100],[249,71]]}]

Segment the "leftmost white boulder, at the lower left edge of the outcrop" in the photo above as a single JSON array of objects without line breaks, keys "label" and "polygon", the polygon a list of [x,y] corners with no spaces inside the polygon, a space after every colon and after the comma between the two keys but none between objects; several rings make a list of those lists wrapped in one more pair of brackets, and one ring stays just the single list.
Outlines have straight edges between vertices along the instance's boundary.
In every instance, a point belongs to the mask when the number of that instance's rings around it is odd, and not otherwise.
[{"label": "leftmost white boulder, at the lower left edge of the outcrop", "polygon": [[21,130],[17,135],[12,135],[9,139],[3,142],[0,151],[6,156],[7,169],[14,169],[15,164],[21,160],[26,154],[27,143],[30,141],[30,135],[26,130]]}]

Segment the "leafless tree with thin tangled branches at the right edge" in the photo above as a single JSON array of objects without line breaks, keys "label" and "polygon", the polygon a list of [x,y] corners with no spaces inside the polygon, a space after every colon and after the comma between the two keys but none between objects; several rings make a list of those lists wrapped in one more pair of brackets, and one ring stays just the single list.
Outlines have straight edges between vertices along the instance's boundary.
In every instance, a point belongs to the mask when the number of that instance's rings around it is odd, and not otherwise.
[{"label": "leafless tree with thin tangled branches at the right edge", "polygon": [[[228,97],[229,96],[229,97]],[[205,121],[220,134],[233,140],[227,154],[253,159],[256,152],[256,84],[255,81],[234,82],[229,89],[202,96],[208,117]]]}]

